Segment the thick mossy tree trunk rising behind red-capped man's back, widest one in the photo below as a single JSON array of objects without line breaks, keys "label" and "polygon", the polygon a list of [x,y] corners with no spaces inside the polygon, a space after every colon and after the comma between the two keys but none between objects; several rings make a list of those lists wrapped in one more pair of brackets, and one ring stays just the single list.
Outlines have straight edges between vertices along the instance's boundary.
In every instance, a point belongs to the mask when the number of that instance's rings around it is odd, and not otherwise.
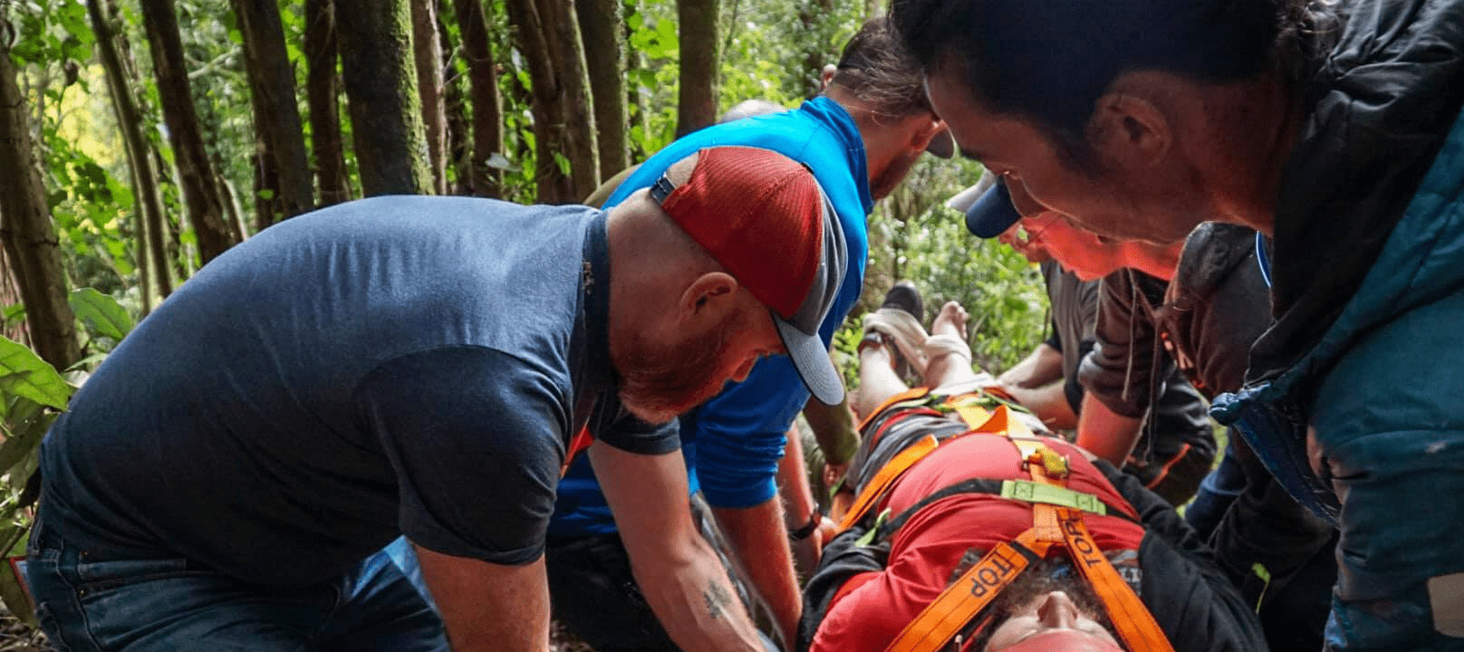
[{"label": "thick mossy tree trunk rising behind red-capped man's back, widest one", "polygon": [[337,9],[362,194],[429,194],[407,0],[357,0]]}]

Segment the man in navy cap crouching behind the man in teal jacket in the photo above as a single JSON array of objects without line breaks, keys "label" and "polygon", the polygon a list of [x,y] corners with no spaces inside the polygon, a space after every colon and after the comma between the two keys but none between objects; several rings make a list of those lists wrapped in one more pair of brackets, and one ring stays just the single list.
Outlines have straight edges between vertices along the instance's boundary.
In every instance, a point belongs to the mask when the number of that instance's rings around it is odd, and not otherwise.
[{"label": "man in navy cap crouching behind the man in teal jacket", "polygon": [[[982,184],[991,181],[987,173]],[[1079,446],[1121,465],[1171,504],[1184,504],[1215,460],[1215,434],[1205,403],[1170,363],[1157,338],[1130,339],[1135,335],[1127,329],[1130,323],[1114,314],[1121,306],[1113,301],[1099,306],[1099,297],[1108,300],[1111,284],[1118,278],[1140,279],[1139,288],[1158,289],[1162,295],[1181,243],[1107,241],[1051,212],[1017,219],[1012,202],[1001,199],[1001,186],[991,186],[979,200],[962,206],[962,211],[969,208],[966,228],[976,237],[997,237],[1041,265],[1053,308],[1050,342],[1056,344],[1038,345],[1034,355],[1003,373],[998,377],[1003,390],[1028,408],[1051,403],[1070,408],[1067,417],[1076,427]],[[1158,383],[1139,386],[1120,380],[1099,383],[1095,389],[1089,377],[1079,379],[1079,365],[1088,368],[1086,361],[1095,355],[1121,360],[1139,348],[1157,349],[1143,351],[1138,364],[1143,364],[1143,374],[1158,376]],[[1132,370],[1132,364],[1120,367],[1120,374]],[[1053,377],[1061,382],[1053,383]],[[1060,401],[1045,399],[1053,393]]]}]

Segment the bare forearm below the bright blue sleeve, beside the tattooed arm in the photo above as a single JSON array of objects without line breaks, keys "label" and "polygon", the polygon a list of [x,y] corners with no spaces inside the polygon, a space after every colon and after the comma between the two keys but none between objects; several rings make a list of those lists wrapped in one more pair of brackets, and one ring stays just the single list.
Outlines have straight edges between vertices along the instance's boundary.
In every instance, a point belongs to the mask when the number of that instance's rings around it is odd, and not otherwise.
[{"label": "bare forearm below the bright blue sleeve, beside the tattooed arm", "polygon": [[767,602],[785,639],[792,642],[802,614],[802,598],[777,499],[745,509],[713,507],[712,512],[722,523],[732,551],[747,569],[752,588]]}]

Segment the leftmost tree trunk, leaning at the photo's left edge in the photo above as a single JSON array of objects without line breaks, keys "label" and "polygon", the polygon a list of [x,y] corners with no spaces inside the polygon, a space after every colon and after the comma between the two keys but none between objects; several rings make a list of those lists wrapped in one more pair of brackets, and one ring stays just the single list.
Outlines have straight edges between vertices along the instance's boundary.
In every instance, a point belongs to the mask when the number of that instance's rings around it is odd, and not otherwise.
[{"label": "leftmost tree trunk, leaning at the photo's left edge", "polygon": [[31,346],[41,360],[66,370],[82,358],[82,349],[76,317],[66,304],[66,270],[45,187],[31,158],[28,105],[16,83],[9,41],[0,38],[0,178],[6,180],[0,183],[0,241],[25,303]]}]

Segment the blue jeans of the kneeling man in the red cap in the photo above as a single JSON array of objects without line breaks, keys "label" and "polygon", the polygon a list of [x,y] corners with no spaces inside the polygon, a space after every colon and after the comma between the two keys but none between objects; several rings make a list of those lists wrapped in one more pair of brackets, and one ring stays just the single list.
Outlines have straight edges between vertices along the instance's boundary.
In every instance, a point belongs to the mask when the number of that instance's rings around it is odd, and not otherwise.
[{"label": "blue jeans of the kneeling man in the red cap", "polygon": [[184,558],[79,550],[44,519],[42,507],[26,580],[60,652],[448,651],[442,620],[385,553],[331,582],[261,586]]}]

